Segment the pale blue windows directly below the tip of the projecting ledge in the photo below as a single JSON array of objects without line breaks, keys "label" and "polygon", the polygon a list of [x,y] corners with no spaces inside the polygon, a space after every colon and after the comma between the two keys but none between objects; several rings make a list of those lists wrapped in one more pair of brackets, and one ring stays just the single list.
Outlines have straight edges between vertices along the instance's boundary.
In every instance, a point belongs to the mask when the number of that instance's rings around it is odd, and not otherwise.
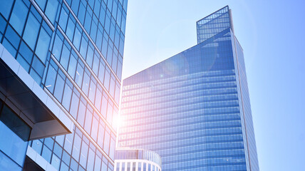
[{"label": "pale blue windows directly below the tip of the projecting ledge", "polygon": [[[78,128],[72,134],[33,140],[30,145],[56,170],[113,170],[113,165]],[[114,150],[113,146],[110,149],[112,160]]]}]

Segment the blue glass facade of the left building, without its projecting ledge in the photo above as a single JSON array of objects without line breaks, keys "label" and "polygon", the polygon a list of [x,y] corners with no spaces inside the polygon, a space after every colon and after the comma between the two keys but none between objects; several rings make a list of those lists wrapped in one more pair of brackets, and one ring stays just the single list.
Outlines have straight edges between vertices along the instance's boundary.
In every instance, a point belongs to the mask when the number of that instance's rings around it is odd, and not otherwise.
[{"label": "blue glass facade of the left building, without its projecting ledge", "polygon": [[113,170],[127,3],[0,0],[1,45],[75,125],[29,141],[56,170]]}]

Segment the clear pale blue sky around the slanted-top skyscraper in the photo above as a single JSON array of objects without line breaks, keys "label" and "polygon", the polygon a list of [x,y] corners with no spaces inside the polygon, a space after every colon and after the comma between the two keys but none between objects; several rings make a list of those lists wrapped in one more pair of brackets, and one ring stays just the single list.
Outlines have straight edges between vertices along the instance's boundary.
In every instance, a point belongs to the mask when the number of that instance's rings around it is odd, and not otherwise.
[{"label": "clear pale blue sky around the slanted-top skyscraper", "polygon": [[229,5],[244,49],[260,170],[305,170],[305,1],[128,0],[123,78],[195,46]]}]

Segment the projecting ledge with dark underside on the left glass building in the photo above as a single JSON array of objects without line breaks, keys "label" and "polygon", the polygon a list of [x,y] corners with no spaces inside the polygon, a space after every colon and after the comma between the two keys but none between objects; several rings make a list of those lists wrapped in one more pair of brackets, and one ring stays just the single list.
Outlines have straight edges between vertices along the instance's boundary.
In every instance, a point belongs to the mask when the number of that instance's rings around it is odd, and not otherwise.
[{"label": "projecting ledge with dark underside on the left glass building", "polygon": [[0,98],[30,127],[30,140],[72,133],[73,122],[0,43]]}]

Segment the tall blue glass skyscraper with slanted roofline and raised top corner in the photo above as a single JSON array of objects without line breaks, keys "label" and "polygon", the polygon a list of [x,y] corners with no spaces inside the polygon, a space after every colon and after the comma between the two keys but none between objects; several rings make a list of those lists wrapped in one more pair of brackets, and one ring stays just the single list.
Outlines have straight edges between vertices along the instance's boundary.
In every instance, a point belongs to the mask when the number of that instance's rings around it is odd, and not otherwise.
[{"label": "tall blue glass skyscraper with slanted roofline and raised top corner", "polygon": [[229,6],[197,21],[197,45],[123,81],[119,147],[162,170],[259,170],[242,47]]}]

